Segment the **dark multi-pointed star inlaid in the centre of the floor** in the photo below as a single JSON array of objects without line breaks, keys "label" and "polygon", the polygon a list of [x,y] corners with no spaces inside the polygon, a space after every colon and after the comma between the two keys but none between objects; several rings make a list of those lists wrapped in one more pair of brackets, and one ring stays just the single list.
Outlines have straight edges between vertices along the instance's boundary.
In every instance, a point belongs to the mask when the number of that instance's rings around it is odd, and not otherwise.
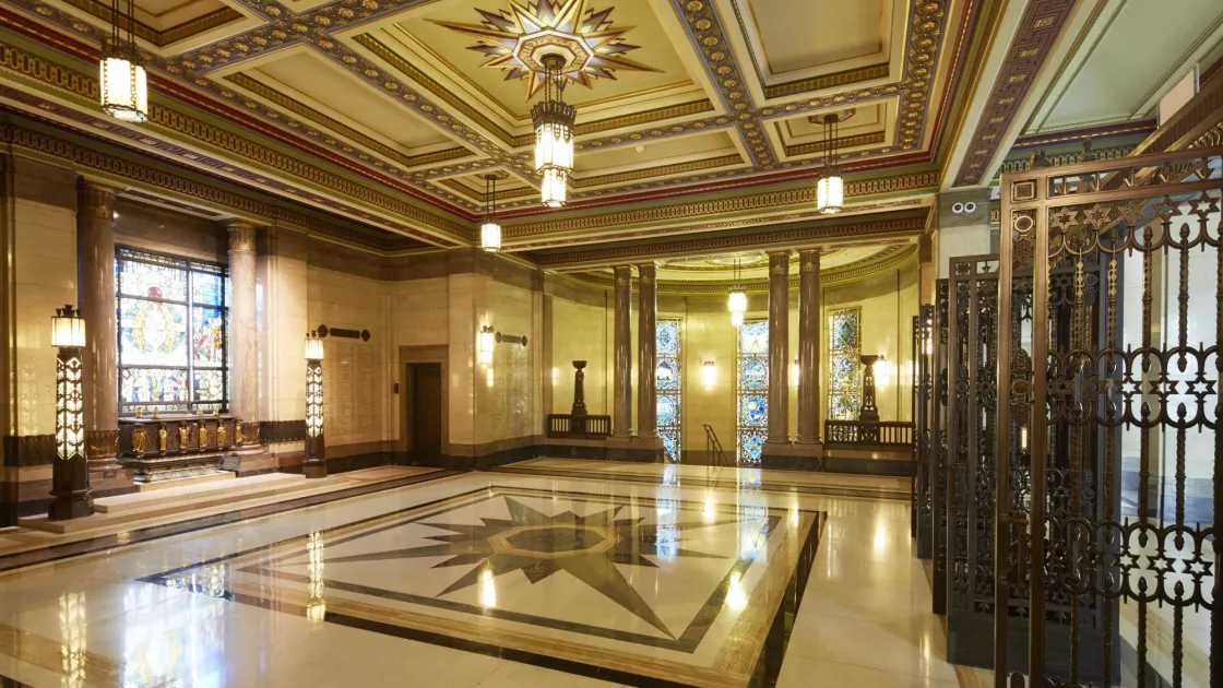
[{"label": "dark multi-pointed star inlaid in the centre of the floor", "polygon": [[[438,545],[407,547],[329,558],[328,563],[378,562],[449,557],[433,568],[472,566],[459,580],[435,596],[442,597],[481,581],[484,572],[493,577],[521,570],[532,584],[564,570],[616,602],[637,618],[674,638],[654,610],[637,594],[615,564],[657,568],[645,555],[725,558],[675,547],[674,533],[737,523],[736,519],[713,523],[642,525],[641,518],[616,518],[620,506],[589,515],[567,510],[547,515],[522,502],[504,497],[510,519],[481,517],[482,524],[424,523],[455,535],[430,535]],[[662,528],[668,533],[659,533]]]}]

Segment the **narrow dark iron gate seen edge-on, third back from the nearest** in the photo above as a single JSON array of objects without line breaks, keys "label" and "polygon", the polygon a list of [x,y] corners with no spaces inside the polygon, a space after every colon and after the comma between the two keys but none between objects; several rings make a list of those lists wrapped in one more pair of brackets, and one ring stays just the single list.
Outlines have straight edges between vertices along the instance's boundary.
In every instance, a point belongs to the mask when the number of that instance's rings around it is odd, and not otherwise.
[{"label": "narrow dark iron gate seen edge-on, third back from the nearest", "polygon": [[934,545],[933,611],[947,613],[947,322],[948,280],[934,284],[934,327],[931,346],[931,539]]}]

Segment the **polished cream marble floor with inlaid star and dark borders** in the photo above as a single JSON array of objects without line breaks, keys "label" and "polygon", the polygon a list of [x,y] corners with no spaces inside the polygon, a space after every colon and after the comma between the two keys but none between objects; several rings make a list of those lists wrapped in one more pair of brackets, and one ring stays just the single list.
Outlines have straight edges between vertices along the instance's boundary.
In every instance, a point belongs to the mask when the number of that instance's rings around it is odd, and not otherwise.
[{"label": "polished cream marble floor with inlaid star and dark borders", "polygon": [[712,480],[662,465],[522,468],[203,520],[7,570],[0,555],[0,676],[959,684],[907,502],[794,490],[751,469]]}]

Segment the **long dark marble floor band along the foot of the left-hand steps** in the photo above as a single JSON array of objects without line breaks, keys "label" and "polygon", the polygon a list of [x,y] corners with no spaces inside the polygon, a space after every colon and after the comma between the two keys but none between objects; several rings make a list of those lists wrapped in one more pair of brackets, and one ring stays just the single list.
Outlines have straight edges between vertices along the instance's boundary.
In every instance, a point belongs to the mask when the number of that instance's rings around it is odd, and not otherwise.
[{"label": "long dark marble floor band along the foot of the left-hand steps", "polygon": [[148,525],[144,528],[137,528],[135,530],[122,530],[108,535],[97,535],[93,537],[84,537],[70,542],[49,545],[46,547],[26,550],[12,555],[4,555],[0,556],[0,578],[2,578],[6,574],[15,573],[18,572],[20,569],[33,566],[61,562],[64,559],[83,557],[98,552],[110,552],[120,547],[142,545],[152,542],[154,540],[174,537],[176,535],[185,535],[194,533],[197,530],[204,530],[208,528],[218,528],[256,518],[278,515],[296,509],[303,509],[307,507],[324,504],[328,502],[363,497],[377,492],[384,492],[386,490],[394,490],[396,487],[406,487],[410,485],[430,482],[434,480],[442,480],[445,477],[453,477],[457,475],[464,475],[464,471],[439,469],[429,473],[423,473],[419,475],[408,475],[391,480],[373,481],[369,482],[368,485],[356,485],[352,487],[345,487],[342,490],[335,490],[331,492],[307,495],[303,497],[286,499],[284,502],[273,502],[256,507],[240,507],[237,509],[230,512],[223,512],[219,514],[209,514],[205,517],[180,520],[168,524]]}]

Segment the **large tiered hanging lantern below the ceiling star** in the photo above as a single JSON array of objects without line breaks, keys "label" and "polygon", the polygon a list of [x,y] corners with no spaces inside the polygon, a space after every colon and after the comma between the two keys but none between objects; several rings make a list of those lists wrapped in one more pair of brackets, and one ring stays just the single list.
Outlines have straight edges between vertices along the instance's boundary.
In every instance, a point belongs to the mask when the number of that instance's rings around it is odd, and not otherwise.
[{"label": "large tiered hanging lantern below the ceiling star", "polygon": [[545,70],[543,100],[531,108],[536,129],[536,171],[543,176],[543,204],[559,208],[565,204],[565,184],[574,170],[574,119],[577,111],[561,100],[564,58],[544,55]]}]

